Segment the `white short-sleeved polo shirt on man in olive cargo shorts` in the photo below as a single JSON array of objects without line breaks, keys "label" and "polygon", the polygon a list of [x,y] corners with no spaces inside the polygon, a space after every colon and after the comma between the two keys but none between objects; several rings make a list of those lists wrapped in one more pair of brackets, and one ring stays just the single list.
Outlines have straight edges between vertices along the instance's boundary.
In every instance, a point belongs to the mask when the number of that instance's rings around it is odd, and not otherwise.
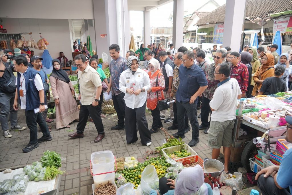
[{"label": "white short-sleeved polo shirt on man in olive cargo shorts", "polygon": [[241,94],[236,79],[228,78],[218,83],[210,102],[212,111],[211,121],[225,122],[236,119],[237,96]]}]

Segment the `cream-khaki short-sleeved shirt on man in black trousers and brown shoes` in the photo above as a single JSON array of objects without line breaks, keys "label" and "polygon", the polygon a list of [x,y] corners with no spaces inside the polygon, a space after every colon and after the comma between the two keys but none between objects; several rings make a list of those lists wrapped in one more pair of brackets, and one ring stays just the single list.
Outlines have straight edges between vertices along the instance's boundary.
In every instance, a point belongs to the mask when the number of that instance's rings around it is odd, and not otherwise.
[{"label": "cream-khaki short-sleeved shirt on man in black trousers and brown shoes", "polygon": [[84,71],[78,72],[78,80],[80,85],[81,104],[91,105],[95,100],[97,87],[101,86],[98,72],[90,65],[87,65]]}]

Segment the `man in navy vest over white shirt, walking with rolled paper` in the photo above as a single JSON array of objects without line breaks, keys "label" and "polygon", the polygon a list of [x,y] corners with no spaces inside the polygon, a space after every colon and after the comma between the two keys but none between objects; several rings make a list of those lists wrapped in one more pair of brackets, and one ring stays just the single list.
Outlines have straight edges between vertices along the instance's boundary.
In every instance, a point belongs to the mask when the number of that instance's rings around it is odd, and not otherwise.
[{"label": "man in navy vest over white shirt, walking with rolled paper", "polygon": [[[30,152],[36,147],[39,147],[39,143],[53,139],[47,123],[41,115],[41,112],[44,112],[46,109],[44,86],[39,73],[32,71],[28,67],[27,59],[23,55],[15,56],[13,65],[18,72],[13,108],[18,110],[19,103],[20,108],[25,109],[25,118],[27,127],[29,128],[30,139],[29,144],[22,151]],[[29,93],[26,93],[26,91],[29,91]],[[39,139],[37,138],[37,123],[39,123],[43,133],[43,136]]]}]

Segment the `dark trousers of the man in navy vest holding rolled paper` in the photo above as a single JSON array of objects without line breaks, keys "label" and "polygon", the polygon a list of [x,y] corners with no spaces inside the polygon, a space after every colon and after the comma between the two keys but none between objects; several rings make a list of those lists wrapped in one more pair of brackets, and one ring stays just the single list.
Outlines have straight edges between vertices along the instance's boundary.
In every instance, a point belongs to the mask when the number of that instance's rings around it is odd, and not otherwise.
[{"label": "dark trousers of the man in navy vest holding rolled paper", "polygon": [[26,125],[29,128],[29,143],[36,144],[37,143],[37,123],[41,128],[41,132],[44,136],[49,136],[50,131],[48,129],[46,121],[43,119],[41,112],[34,113],[34,110],[25,110],[25,118]]}]

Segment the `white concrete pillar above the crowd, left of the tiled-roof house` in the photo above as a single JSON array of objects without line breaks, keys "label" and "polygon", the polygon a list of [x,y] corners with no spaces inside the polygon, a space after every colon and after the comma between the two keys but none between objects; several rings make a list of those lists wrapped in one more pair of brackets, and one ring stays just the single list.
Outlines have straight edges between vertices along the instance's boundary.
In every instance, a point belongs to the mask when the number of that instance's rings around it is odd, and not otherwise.
[{"label": "white concrete pillar above the crowd, left of the tiled-roof house", "polygon": [[176,49],[183,46],[183,2],[184,0],[173,0],[172,42]]}]

